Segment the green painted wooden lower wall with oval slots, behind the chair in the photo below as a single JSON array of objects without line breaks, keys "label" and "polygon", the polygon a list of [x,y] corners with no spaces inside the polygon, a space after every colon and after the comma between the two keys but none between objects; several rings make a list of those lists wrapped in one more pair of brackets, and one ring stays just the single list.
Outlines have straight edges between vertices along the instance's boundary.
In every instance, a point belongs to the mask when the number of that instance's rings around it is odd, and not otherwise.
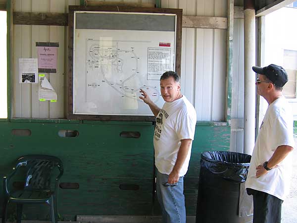
[{"label": "green painted wooden lower wall with oval slots, behind the chair", "polygon": [[[187,215],[196,213],[201,152],[229,150],[230,126],[222,124],[197,123],[190,168],[185,177]],[[32,135],[15,136],[12,129],[30,129]],[[61,219],[73,221],[76,215],[160,215],[152,189],[153,129],[151,122],[3,121],[0,122],[0,177],[10,173],[14,161],[23,155],[53,155],[64,164],[60,182],[76,182],[80,186],[59,189]],[[59,130],[77,130],[79,136],[59,137]],[[122,131],[139,131],[141,137],[122,138],[119,136]],[[120,184],[136,184],[139,190],[120,190]],[[11,215],[15,206],[9,207]],[[30,220],[49,219],[47,206],[27,205],[23,213]]]}]

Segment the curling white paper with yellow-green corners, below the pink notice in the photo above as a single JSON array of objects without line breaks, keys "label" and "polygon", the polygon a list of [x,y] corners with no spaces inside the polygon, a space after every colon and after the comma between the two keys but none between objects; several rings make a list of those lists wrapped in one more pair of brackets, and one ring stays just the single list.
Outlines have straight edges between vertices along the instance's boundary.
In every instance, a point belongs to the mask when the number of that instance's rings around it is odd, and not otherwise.
[{"label": "curling white paper with yellow-green corners, below the pink notice", "polygon": [[51,84],[49,83],[45,74],[39,74],[39,89],[38,89],[39,101],[56,102],[57,94]]}]

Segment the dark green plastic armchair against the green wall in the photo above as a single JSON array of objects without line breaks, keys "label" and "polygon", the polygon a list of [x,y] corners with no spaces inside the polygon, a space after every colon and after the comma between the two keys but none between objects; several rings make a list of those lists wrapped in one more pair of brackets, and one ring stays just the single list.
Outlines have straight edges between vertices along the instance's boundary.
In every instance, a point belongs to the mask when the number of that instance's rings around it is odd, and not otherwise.
[{"label": "dark green plastic armchair against the green wall", "polygon": [[[51,173],[54,167],[59,169],[59,175],[55,183],[51,183]],[[10,190],[13,178],[17,172],[25,168],[24,188],[21,190]],[[60,159],[46,155],[28,155],[17,160],[14,171],[7,177],[3,177],[4,202],[2,223],[7,220],[7,206],[9,202],[16,203],[16,222],[21,223],[23,204],[46,203],[50,206],[51,222],[57,223],[57,199],[59,179],[63,174],[63,164]],[[15,176],[15,177],[13,177]],[[24,176],[23,176],[24,177]],[[10,182],[11,181],[11,182]]]}]

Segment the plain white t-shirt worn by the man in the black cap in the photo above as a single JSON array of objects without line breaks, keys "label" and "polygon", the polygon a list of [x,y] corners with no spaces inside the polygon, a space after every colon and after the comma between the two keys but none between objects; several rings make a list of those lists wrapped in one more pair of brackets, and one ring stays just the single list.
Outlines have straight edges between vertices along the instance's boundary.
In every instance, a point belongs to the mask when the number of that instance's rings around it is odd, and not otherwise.
[{"label": "plain white t-shirt worn by the man in the black cap", "polygon": [[252,152],[247,174],[246,188],[263,191],[281,200],[289,193],[292,172],[291,153],[267,174],[256,178],[256,167],[268,161],[282,145],[295,146],[293,138],[293,115],[284,97],[268,106]]}]

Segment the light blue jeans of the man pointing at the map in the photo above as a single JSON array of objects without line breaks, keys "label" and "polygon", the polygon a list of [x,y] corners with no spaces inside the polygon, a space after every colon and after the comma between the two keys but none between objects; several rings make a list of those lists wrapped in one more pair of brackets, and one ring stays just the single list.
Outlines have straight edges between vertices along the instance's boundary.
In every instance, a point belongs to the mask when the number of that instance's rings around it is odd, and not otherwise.
[{"label": "light blue jeans of the man pointing at the map", "polygon": [[176,186],[163,186],[168,181],[167,174],[156,169],[157,197],[162,208],[162,223],[186,223],[186,208],[184,196],[184,177],[181,176]]}]

